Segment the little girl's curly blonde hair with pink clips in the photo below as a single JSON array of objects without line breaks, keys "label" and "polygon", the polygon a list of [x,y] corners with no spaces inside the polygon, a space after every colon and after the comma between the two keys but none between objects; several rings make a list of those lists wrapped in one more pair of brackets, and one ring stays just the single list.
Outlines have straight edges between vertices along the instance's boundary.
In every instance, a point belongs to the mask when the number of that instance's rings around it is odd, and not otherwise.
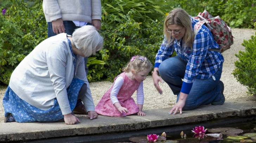
[{"label": "little girl's curly blonde hair with pink clips", "polygon": [[151,64],[150,60],[143,56],[133,56],[128,62],[127,66],[123,68],[124,72],[130,72],[135,70],[136,73],[152,69],[153,65]]}]

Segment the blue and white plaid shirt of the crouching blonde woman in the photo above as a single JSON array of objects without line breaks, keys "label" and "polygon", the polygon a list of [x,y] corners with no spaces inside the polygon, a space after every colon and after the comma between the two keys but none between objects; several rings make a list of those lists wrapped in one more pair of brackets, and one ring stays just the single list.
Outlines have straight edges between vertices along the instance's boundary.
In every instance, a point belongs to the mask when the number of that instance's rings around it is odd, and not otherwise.
[{"label": "blue and white plaid shirt of the crouching blonde woman", "polygon": [[[192,19],[192,29],[198,22]],[[185,49],[185,50],[183,50]],[[224,62],[224,58],[220,52],[209,51],[209,49],[220,49],[219,45],[213,39],[211,31],[202,26],[197,35],[194,37],[192,51],[190,47],[183,44],[181,40],[174,40],[168,45],[168,41],[164,39],[155,58],[155,67],[159,67],[162,61],[171,57],[174,50],[177,55],[187,62],[186,72],[184,76],[185,83],[193,83],[194,79],[208,79],[212,77]]]}]

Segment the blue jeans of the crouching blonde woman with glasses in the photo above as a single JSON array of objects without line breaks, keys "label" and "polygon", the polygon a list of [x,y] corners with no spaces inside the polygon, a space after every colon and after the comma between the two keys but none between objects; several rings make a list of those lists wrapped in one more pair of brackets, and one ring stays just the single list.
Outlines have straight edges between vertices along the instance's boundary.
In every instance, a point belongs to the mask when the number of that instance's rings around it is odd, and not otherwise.
[{"label": "blue jeans of the crouching blonde woman with glasses", "polygon": [[[174,95],[179,100],[182,79],[184,78],[187,62],[179,56],[171,57],[164,60],[159,66],[159,74],[162,79],[169,85]],[[222,86],[219,80],[222,73],[222,66],[214,74],[216,80],[194,79],[190,93],[187,96],[183,110],[192,110],[201,105],[211,104],[213,101],[219,101],[222,98]]]}]

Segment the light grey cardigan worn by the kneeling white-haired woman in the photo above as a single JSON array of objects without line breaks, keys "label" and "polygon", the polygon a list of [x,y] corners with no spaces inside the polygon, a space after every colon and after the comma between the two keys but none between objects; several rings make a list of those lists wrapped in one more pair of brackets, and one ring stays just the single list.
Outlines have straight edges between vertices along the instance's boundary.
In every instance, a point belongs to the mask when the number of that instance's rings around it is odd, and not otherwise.
[{"label": "light grey cardigan worn by the kneeling white-haired woman", "polygon": [[87,85],[82,97],[85,108],[94,111],[84,58],[77,56],[76,68],[73,60],[65,33],[47,38],[15,68],[9,87],[22,100],[42,110],[51,108],[57,98],[62,114],[66,115],[71,113],[66,88],[73,78],[78,78]]}]

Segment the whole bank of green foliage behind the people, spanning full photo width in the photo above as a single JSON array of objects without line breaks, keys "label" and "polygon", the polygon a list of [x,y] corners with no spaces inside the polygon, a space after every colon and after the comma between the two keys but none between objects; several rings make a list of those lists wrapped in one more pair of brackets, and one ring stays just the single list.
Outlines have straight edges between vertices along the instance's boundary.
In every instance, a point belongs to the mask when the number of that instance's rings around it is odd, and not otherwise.
[{"label": "whole bank of green foliage behind the people, spanning full photo width", "polygon": [[[47,38],[41,0],[0,0],[0,83],[8,84],[14,68]],[[104,48],[88,60],[88,80],[113,80],[134,55],[152,63],[161,44],[167,12],[181,7],[196,16],[204,9],[231,27],[255,28],[252,0],[101,0]],[[254,23],[255,22],[255,23]]]}]

